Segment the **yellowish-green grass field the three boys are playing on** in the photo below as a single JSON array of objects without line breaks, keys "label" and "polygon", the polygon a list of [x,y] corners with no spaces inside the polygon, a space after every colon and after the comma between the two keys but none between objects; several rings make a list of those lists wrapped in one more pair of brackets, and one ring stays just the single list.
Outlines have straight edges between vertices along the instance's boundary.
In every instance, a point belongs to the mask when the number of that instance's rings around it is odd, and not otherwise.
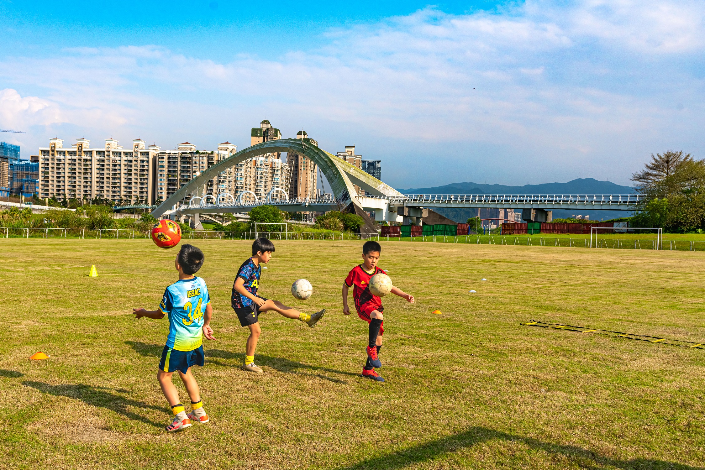
[{"label": "yellowish-green grass field the three boys are playing on", "polygon": [[[0,240],[0,467],[705,469],[705,350],[520,326],[705,342],[701,252],[383,242],[380,266],[417,302],[385,298],[387,381],[373,383],[358,376],[367,324],[341,312],[360,242],[276,242],[262,295],[328,310],[313,330],[264,314],[266,373],[238,369],[230,292],[250,243],[195,241],[219,339],[195,368],[212,423],[167,434],[168,321],[130,311],[157,307],[176,252]],[[51,359],[27,359],[40,350]]]}]

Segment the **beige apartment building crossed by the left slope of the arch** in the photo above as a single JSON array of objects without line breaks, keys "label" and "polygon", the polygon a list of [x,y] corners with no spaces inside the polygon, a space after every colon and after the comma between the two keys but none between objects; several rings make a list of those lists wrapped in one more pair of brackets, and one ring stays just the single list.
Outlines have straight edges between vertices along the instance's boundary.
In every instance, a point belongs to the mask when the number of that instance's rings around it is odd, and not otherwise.
[{"label": "beige apartment building crossed by the left slope of the arch", "polygon": [[[217,151],[200,151],[196,149],[195,144],[190,142],[177,144],[176,149],[173,150],[154,148],[157,151],[157,181],[155,184],[157,204],[170,197],[171,194],[207,168],[227,159],[238,151],[238,147],[230,142],[219,144]],[[210,194],[217,198],[220,194],[230,193],[235,196],[235,173],[234,166],[223,171],[209,180],[199,195]],[[184,200],[190,199],[190,197],[189,194]]]}]

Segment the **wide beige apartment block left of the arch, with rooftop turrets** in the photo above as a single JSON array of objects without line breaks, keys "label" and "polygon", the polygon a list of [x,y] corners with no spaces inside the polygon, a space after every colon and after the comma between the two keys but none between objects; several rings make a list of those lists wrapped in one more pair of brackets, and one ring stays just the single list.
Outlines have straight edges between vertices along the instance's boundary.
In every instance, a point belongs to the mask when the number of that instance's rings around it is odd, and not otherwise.
[{"label": "wide beige apartment block left of the arch, with rooftop turrets", "polygon": [[69,148],[59,138],[50,139],[49,147],[39,147],[39,197],[153,204],[155,159],[156,151],[140,139],[131,149],[114,139],[99,149],[87,139]]}]

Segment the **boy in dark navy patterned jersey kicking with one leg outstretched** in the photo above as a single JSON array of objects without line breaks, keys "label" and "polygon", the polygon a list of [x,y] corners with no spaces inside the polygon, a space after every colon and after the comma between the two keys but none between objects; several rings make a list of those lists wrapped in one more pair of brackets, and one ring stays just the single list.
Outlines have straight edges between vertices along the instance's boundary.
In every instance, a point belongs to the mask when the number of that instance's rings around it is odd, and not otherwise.
[{"label": "boy in dark navy patterned jersey kicking with one leg outstretched", "polygon": [[274,243],[266,238],[258,238],[252,243],[252,258],[248,258],[238,269],[238,277],[233,283],[233,297],[231,305],[235,309],[235,314],[240,319],[240,325],[250,328],[250,337],[247,338],[247,350],[245,352],[245,364],[243,370],[250,372],[264,372],[255,365],[255,348],[257,340],[262,330],[259,328],[259,314],[274,310],[286,316],[288,319],[299,319],[313,328],[321,317],[326,313],[326,309],[316,312],[313,315],[302,314],[300,311],[278,302],[276,300],[265,299],[257,295],[259,288],[259,276],[262,274],[262,263],[269,263],[271,254],[274,252]]}]

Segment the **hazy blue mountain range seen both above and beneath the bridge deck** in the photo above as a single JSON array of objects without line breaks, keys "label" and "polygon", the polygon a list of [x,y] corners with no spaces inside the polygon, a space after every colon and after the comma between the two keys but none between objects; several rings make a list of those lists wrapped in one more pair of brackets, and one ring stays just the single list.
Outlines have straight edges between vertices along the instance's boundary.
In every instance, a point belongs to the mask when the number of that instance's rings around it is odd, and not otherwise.
[{"label": "hazy blue mountain range seen both above and beneath the bridge deck", "polygon": [[[409,190],[399,190],[403,194],[632,194],[633,187],[615,185],[610,181],[599,181],[594,178],[578,178],[568,183],[544,183],[542,185],[505,186],[481,185],[479,183],[451,183],[445,186],[415,187]],[[477,209],[455,209],[439,207],[434,209],[456,222],[465,222],[467,218],[477,216]],[[608,220],[616,217],[630,216],[629,211],[580,211],[555,210],[553,218],[570,218],[580,214],[589,216],[592,220]]]}]

